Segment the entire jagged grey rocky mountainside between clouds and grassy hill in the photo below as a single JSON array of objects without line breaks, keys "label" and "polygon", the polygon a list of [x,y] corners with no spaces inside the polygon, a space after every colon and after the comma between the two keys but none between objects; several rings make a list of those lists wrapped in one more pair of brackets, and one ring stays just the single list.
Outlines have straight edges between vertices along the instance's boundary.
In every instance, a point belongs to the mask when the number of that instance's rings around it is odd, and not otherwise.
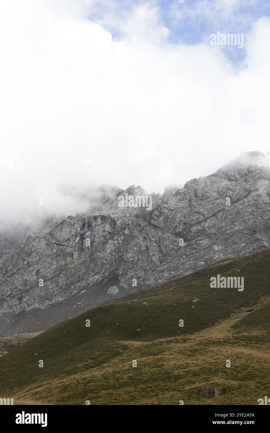
[{"label": "entire jagged grey rocky mountainside between clouds and grassy hill", "polygon": [[31,233],[0,267],[0,313],[26,314],[97,288],[108,298],[111,286],[121,296],[269,247],[270,173],[257,166],[258,154],[248,165],[236,161],[182,189],[168,188],[162,199],[153,195],[152,210],[119,208],[117,194],[146,191],[114,187],[102,212]]}]

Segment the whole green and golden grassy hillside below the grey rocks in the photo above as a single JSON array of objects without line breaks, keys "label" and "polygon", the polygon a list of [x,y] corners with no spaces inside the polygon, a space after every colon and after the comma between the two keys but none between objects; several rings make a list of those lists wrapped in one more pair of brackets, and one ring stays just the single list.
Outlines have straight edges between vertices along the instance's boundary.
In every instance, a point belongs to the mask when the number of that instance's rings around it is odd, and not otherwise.
[{"label": "whole green and golden grassy hillside below the grey rocks", "polygon": [[[210,289],[217,273],[244,276],[244,291]],[[257,404],[270,395],[269,281],[266,250],[103,304],[3,355],[0,397],[49,404]],[[251,307],[256,310],[247,313]],[[214,380],[221,395],[205,398],[204,386]]]}]

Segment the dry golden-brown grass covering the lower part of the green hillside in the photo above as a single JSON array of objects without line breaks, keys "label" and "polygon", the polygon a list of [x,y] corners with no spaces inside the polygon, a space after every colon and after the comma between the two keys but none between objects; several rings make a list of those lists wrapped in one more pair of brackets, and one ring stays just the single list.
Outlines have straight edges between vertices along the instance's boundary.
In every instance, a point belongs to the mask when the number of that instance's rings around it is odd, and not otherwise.
[{"label": "dry golden-brown grass covering the lower part of the green hillside", "polygon": [[[267,394],[270,342],[254,350],[238,336],[235,341],[232,325],[247,314],[241,310],[189,338],[119,342],[128,349],[112,362],[60,382],[55,379],[38,388],[18,390],[16,404],[46,404],[34,400],[36,393],[39,398],[49,393],[47,404],[85,404],[86,400],[91,404],[179,404],[179,400],[184,404],[257,404]],[[133,359],[137,368],[132,367]],[[230,368],[225,365],[228,359]],[[219,397],[205,397],[205,384],[211,381],[221,385]],[[79,394],[76,391],[72,396],[72,389],[78,388]]]}]

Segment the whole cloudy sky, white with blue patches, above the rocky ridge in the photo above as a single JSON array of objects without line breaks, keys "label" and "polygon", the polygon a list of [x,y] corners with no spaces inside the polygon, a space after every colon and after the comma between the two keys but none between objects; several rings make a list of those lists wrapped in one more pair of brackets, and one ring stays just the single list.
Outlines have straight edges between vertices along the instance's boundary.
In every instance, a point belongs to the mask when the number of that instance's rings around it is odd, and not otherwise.
[{"label": "whole cloudy sky, white with blue patches, above the rocky ridge", "polygon": [[259,0],[2,0],[0,218],[39,197],[59,210],[62,187],[163,193],[269,151],[269,16]]}]

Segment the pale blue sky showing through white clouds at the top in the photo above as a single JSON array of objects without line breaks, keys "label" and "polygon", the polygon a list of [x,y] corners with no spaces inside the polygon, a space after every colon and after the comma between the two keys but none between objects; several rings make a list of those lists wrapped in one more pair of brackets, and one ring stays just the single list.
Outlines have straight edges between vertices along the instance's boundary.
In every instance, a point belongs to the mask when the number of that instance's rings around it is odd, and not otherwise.
[{"label": "pale blue sky showing through white clouds at the top", "polygon": [[[147,5],[156,10],[159,22],[169,30],[167,41],[173,44],[196,45],[208,42],[212,33],[244,34],[262,16],[270,16],[268,0],[89,0],[94,4],[90,19],[101,22],[114,38],[122,37],[119,26],[114,25],[112,16],[125,16],[136,7]],[[110,12],[109,12],[110,11]],[[224,54],[233,63],[242,61],[245,48],[224,46]]]}]

